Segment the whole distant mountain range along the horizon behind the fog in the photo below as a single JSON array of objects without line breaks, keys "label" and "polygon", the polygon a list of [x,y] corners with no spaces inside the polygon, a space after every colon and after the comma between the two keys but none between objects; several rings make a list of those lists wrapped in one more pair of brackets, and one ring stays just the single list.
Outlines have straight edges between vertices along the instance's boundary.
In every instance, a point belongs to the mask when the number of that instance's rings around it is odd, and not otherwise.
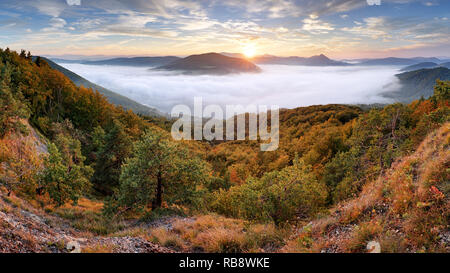
[{"label": "whole distant mountain range along the horizon behind the fog", "polygon": [[[222,60],[221,56],[240,59],[241,61]],[[449,62],[448,59],[439,59],[436,57],[414,57],[414,58],[381,58],[381,59],[353,59],[353,60],[332,60],[324,54],[311,57],[279,57],[273,55],[260,55],[253,58],[246,58],[241,53],[206,53],[199,55],[191,55],[186,58],[176,56],[163,57],[130,57],[130,58],[112,58],[106,60],[66,60],[52,58],[57,63],[81,63],[88,65],[117,65],[117,66],[135,66],[135,67],[157,67],[161,70],[179,70],[187,74],[228,74],[236,72],[254,72],[258,70],[252,67],[253,64],[277,64],[277,65],[301,65],[301,66],[350,66],[350,65],[395,65],[395,66],[414,66],[404,71],[412,71],[422,68],[434,68],[438,66],[448,67],[444,63]],[[239,65],[238,63],[241,63]],[[423,63],[423,64],[422,64]],[[427,63],[427,64],[425,64]],[[436,64],[436,66],[431,65]],[[421,64],[421,65],[419,65]],[[440,65],[438,65],[440,64]]]}]

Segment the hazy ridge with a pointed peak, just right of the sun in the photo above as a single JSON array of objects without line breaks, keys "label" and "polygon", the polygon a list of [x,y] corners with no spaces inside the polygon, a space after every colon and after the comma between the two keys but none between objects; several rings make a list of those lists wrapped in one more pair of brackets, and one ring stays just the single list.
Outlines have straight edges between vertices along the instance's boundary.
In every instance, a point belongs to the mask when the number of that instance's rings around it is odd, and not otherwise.
[{"label": "hazy ridge with a pointed peak, just right of the sun", "polygon": [[346,62],[334,61],[327,56],[320,54],[309,58],[305,57],[277,57],[272,55],[257,56],[252,59],[256,64],[281,64],[281,65],[304,65],[304,66],[346,66],[351,65]]}]

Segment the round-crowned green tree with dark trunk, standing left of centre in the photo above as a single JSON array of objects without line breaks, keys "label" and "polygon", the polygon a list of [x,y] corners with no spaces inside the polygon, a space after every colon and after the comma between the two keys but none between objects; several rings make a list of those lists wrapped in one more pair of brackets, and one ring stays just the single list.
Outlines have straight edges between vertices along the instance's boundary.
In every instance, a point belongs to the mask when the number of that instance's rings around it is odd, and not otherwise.
[{"label": "round-crowned green tree with dark trunk, standing left of centre", "polygon": [[152,209],[193,202],[198,186],[208,178],[205,163],[185,147],[149,129],[134,145],[133,156],[122,166],[118,204]]}]

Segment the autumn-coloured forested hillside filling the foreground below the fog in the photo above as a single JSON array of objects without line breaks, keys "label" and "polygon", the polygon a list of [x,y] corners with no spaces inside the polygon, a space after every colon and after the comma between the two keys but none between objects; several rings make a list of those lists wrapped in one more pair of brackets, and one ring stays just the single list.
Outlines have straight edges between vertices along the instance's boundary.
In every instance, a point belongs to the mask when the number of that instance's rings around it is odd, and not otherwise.
[{"label": "autumn-coloured forested hillside filling the foreground below the fog", "polygon": [[[448,81],[408,105],[283,110],[280,148],[261,152],[250,141],[173,141],[164,121],[110,104],[25,51],[0,50],[0,76],[5,204],[20,198],[79,231],[175,251],[364,251],[379,225],[395,219],[398,230],[420,239],[390,240],[401,247],[382,251],[448,247]],[[355,199],[368,195],[376,206]],[[379,205],[388,201],[389,210]],[[2,217],[15,213],[10,205],[0,209]],[[378,210],[382,216],[371,222]],[[361,226],[354,244],[329,248],[320,238],[335,229],[305,226],[336,217],[343,234],[356,238],[354,225]]]}]

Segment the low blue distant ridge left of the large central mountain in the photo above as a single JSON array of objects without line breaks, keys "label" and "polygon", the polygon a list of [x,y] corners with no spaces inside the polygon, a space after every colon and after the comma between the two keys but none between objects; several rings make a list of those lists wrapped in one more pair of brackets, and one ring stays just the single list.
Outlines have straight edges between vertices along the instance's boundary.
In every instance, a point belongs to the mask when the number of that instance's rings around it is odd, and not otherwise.
[{"label": "low blue distant ridge left of the large central mountain", "polygon": [[166,65],[181,58],[175,56],[164,57],[133,57],[133,58],[114,58],[99,61],[86,60],[64,60],[52,59],[58,63],[81,63],[88,65],[118,65],[118,66],[138,66],[138,67],[152,67]]}]

